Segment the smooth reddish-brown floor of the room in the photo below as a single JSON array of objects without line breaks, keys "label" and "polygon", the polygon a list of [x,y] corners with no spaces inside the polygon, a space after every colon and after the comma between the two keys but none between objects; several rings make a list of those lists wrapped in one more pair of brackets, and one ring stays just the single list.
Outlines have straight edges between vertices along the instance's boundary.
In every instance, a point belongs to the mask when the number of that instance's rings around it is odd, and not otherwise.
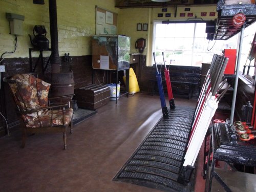
[{"label": "smooth reddish-brown floor of the room", "polygon": [[[175,98],[180,106],[196,102]],[[66,151],[62,134],[29,136],[24,149],[19,132],[0,138],[0,191],[159,191],[112,179],[161,117],[159,96],[137,93],[75,125]]]}]

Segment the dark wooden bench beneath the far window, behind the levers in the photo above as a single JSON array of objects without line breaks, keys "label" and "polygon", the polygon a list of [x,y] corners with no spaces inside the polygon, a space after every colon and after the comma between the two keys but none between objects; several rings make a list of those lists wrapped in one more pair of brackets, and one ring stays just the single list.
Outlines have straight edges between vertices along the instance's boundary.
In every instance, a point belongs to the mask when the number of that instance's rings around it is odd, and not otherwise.
[{"label": "dark wooden bench beneath the far window, behind the levers", "polygon": [[[160,70],[160,66],[158,66]],[[168,69],[168,66],[167,66]],[[187,96],[187,98],[191,98],[193,96],[193,92],[195,88],[199,86],[200,82],[200,67],[191,67],[191,66],[170,66],[169,67],[169,75],[170,75],[170,83],[172,84],[173,94]],[[155,72],[154,72],[155,74]],[[165,93],[166,91],[166,81],[164,77],[164,70],[162,67],[162,83]],[[155,75],[154,75],[155,76]],[[152,95],[158,93],[157,87],[157,79],[150,79],[152,86]]]}]

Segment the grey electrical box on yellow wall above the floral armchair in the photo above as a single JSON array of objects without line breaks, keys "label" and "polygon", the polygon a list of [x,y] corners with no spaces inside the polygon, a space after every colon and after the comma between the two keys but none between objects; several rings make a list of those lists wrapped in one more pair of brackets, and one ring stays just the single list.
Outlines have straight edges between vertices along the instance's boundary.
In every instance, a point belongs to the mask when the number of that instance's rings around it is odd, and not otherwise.
[{"label": "grey electrical box on yellow wall above the floral armchair", "polygon": [[10,34],[23,35],[24,16],[14,13],[6,13],[6,18],[9,20]]}]

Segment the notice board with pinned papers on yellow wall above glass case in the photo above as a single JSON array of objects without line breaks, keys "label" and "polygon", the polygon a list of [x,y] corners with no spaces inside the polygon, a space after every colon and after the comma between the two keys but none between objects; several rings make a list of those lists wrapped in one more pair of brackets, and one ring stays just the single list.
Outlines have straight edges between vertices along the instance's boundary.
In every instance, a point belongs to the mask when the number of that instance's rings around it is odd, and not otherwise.
[{"label": "notice board with pinned papers on yellow wall above glass case", "polygon": [[96,8],[96,34],[116,35],[117,34],[117,13]]}]

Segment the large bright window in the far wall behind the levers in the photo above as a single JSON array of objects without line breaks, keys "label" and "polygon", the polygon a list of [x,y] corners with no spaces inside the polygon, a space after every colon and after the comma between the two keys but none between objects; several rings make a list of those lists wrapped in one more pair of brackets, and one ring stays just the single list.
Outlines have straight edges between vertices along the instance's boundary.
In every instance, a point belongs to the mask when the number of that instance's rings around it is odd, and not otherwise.
[{"label": "large bright window in the far wall behind the levers", "polygon": [[205,23],[154,22],[153,52],[156,62],[163,63],[164,52],[166,65],[201,67],[202,62],[211,62],[214,53],[221,54],[224,49],[237,48],[237,41],[207,40],[205,28]]}]

